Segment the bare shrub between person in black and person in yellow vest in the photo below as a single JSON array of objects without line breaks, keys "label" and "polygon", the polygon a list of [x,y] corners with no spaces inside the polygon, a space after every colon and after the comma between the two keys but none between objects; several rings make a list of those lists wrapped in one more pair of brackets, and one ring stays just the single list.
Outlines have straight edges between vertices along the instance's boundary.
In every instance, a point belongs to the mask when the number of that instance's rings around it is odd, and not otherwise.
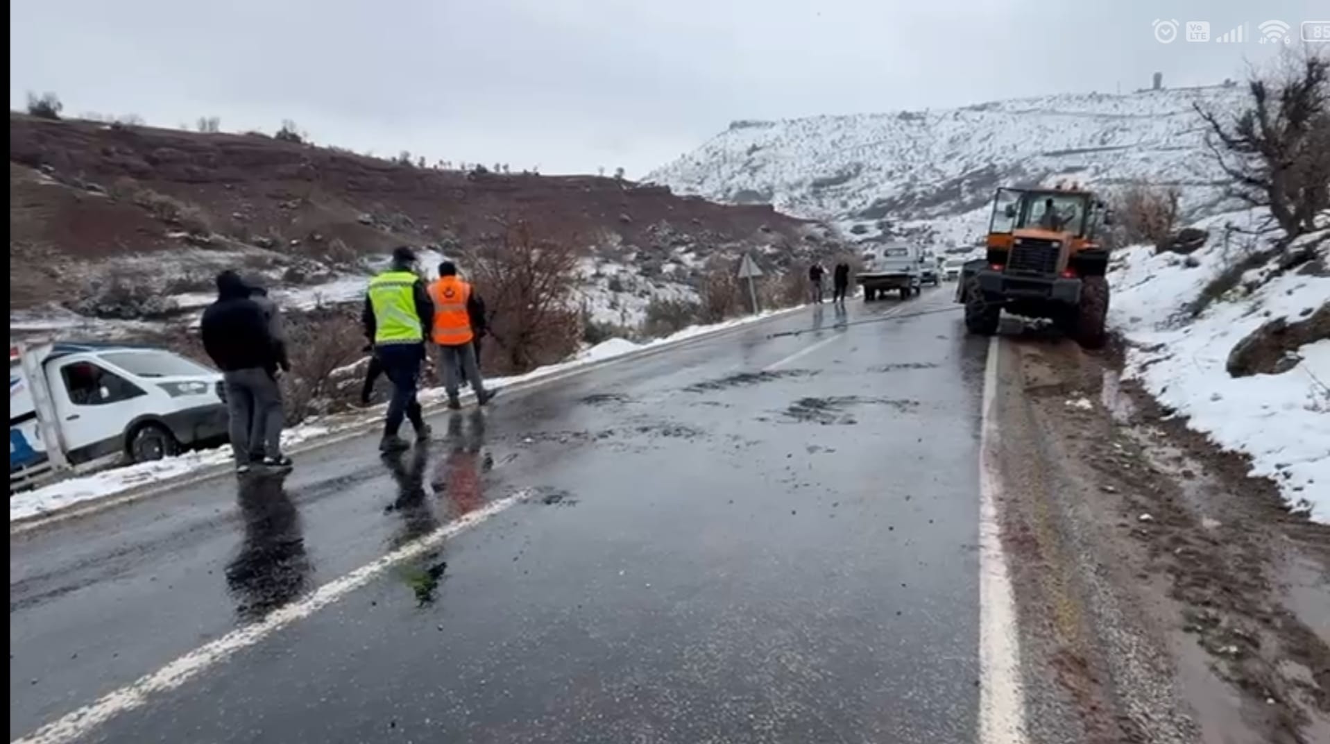
[{"label": "bare shrub between person in black and person in yellow vest", "polygon": [[291,371],[282,375],[286,422],[344,410],[358,394],[356,362],[364,358],[364,331],[352,310],[319,309],[285,318]]}]

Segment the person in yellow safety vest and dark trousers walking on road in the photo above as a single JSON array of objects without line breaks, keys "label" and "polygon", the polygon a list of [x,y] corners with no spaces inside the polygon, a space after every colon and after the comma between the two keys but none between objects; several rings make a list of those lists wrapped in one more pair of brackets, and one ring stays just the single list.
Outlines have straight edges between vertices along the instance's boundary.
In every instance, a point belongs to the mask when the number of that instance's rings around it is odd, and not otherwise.
[{"label": "person in yellow safety vest and dark trousers walking on road", "polygon": [[410,447],[398,437],[403,418],[411,419],[418,442],[430,439],[430,427],[416,401],[416,378],[424,362],[426,329],[434,327],[435,310],[424,279],[415,273],[415,264],[414,250],[407,246],[394,249],[388,270],[370,279],[360,314],[364,335],[374,342],[383,374],[392,382],[392,398],[379,443],[379,450],[384,453]]}]

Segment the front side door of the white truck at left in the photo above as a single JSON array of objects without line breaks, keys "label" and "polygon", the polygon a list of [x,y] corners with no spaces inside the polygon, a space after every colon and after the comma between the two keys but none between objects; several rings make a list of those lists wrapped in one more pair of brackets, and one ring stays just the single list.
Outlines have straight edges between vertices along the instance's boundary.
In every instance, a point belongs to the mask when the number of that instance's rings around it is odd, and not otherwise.
[{"label": "front side door of the white truck at left", "polygon": [[88,358],[57,359],[48,369],[69,461],[122,453],[125,427],[150,407],[148,393]]}]

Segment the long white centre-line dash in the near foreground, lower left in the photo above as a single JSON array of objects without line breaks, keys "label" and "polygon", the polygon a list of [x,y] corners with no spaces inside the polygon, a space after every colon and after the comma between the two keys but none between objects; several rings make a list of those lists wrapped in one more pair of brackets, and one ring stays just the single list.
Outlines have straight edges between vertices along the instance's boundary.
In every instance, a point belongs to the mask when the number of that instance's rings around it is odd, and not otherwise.
[{"label": "long white centre-line dash in the near foreground, lower left", "polygon": [[142,707],[150,696],[180,688],[209,667],[227,660],[237,652],[259,643],[297,620],[303,620],[314,615],[319,610],[368,584],[388,568],[424,555],[439,547],[448,538],[480,524],[504,510],[527,500],[529,496],[531,491],[517,491],[511,496],[489,502],[476,511],[459,516],[438,530],[416,538],[392,552],[323,584],[303,599],[274,610],[258,623],[237,628],[217,640],[190,651],[156,672],[142,676],[137,681],[112,691],[96,701],[48,723],[28,736],[15,739],[13,744],[63,744],[85,736],[112,717]]}]

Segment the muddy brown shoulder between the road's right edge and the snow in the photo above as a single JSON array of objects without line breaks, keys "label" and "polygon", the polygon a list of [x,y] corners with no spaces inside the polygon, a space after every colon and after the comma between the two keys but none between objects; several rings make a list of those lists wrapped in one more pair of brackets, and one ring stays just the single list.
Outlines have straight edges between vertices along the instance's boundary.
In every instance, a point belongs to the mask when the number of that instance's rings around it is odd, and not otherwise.
[{"label": "muddy brown shoulder between the road's right edge and the snow", "polygon": [[[1330,741],[1330,527],[1119,383],[1113,350],[1013,341],[1003,354],[1063,480],[1048,488],[1059,495],[1009,496],[1003,539],[1013,562],[1040,566],[1013,571],[1023,624],[1040,611],[1031,600],[1077,608],[1053,608],[1048,657],[1085,736]],[[1127,616],[1105,620],[1107,606]],[[1176,715],[1134,689],[1152,676]]]}]

